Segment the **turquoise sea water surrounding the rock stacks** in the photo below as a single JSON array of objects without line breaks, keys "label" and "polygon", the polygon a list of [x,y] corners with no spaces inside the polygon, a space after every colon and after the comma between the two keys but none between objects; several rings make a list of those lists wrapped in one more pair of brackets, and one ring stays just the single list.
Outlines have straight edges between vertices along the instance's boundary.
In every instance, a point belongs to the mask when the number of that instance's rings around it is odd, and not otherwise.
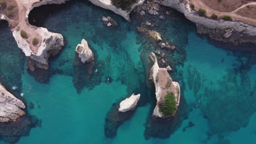
[{"label": "turquoise sea water surrounding the rock stacks", "polygon": [[[38,11],[45,8],[38,8]],[[129,23],[86,2],[47,8],[56,10],[44,15],[46,19],[39,25],[61,33],[67,42],[60,55],[50,61],[50,71],[55,75],[50,77],[49,83],[39,83],[27,73],[26,65],[22,64],[24,60],[16,58],[21,52],[8,28],[0,29],[6,38],[0,41],[1,49],[5,50],[4,56],[8,56],[0,59],[1,71],[4,77],[13,73],[1,82],[9,88],[19,85],[16,93],[24,93],[26,103],[34,104],[34,109],[27,109],[30,115],[42,119],[42,127],[31,129],[30,135],[21,137],[18,143],[256,142],[254,54],[229,51],[210,44],[206,38],[196,35],[194,24],[176,11],[166,21],[153,18],[161,23],[161,27],[155,29],[166,40],[177,44],[178,50],[166,52],[166,57],[174,69],[171,75],[181,83],[185,114],[181,114],[183,118],[167,139],[151,137],[145,140],[146,125],[155,104],[154,89],[146,75],[148,54],[155,47],[144,44],[147,40],[136,31],[137,19],[134,17]],[[104,27],[100,20],[103,15],[113,16],[119,27]],[[38,17],[38,20],[42,19],[42,16]],[[89,75],[86,70],[74,64],[75,46],[82,38],[96,53],[90,79],[86,77]],[[7,39],[9,43],[6,43]],[[141,43],[136,44],[138,40]],[[10,44],[13,52],[5,48]],[[3,65],[5,59],[9,59],[13,67]],[[17,71],[10,73],[15,68]],[[95,69],[98,69],[97,73],[94,73]],[[83,73],[78,75],[78,71]],[[107,77],[112,79],[108,85]],[[114,103],[133,92],[141,93],[134,115],[118,128],[117,136],[107,138],[104,124],[108,111]]]}]

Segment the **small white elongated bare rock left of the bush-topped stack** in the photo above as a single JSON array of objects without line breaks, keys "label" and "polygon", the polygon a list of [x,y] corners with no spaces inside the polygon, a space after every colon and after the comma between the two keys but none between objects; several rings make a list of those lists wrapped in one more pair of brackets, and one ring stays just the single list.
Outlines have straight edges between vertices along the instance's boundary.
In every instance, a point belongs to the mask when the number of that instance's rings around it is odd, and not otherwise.
[{"label": "small white elongated bare rock left of the bush-topped stack", "polygon": [[132,94],[131,97],[121,101],[118,111],[127,112],[130,110],[134,110],[135,107],[137,106],[137,103],[140,97],[141,97],[141,94],[137,94],[137,95]]}]

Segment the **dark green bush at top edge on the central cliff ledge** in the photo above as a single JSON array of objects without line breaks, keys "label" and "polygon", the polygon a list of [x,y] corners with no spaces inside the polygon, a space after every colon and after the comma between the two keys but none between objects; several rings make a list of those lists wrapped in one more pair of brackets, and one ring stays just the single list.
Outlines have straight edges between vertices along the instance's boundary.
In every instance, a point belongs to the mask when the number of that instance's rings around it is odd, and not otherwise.
[{"label": "dark green bush at top edge on the central cliff ledge", "polygon": [[132,4],[136,2],[137,0],[111,0],[111,3],[115,5],[115,7],[122,10],[131,10]]}]

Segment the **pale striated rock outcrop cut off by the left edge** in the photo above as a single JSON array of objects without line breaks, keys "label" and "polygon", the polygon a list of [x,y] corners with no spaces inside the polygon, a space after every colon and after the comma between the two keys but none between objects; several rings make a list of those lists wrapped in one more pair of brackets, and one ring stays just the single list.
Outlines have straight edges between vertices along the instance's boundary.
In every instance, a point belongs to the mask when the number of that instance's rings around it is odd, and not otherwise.
[{"label": "pale striated rock outcrop cut off by the left edge", "polygon": [[0,84],[0,122],[16,121],[25,115],[25,104]]}]

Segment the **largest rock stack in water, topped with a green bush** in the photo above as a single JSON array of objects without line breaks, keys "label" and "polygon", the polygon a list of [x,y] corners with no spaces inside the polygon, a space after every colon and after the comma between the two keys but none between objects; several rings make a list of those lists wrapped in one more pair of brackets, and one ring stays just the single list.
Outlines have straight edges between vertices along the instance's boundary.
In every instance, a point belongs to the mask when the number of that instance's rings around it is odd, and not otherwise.
[{"label": "largest rock stack in water, topped with a green bush", "polygon": [[151,53],[149,57],[154,62],[150,79],[154,82],[157,100],[153,116],[161,118],[174,116],[179,105],[181,91],[179,83],[172,81],[166,68],[159,68],[155,53]]}]

